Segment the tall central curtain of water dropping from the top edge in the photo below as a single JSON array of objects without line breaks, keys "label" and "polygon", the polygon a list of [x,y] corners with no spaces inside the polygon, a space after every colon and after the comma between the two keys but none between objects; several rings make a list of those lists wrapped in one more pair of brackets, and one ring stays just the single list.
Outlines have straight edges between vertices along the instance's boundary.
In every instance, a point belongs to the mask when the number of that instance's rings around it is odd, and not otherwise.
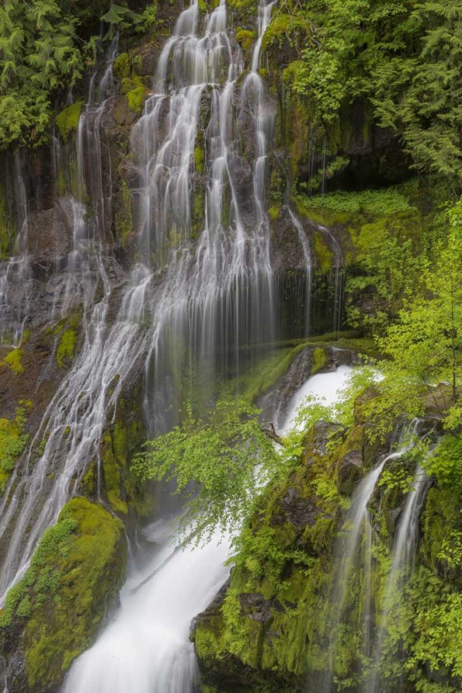
[{"label": "tall central curtain of water dropping from the top edge", "polygon": [[[262,35],[270,10],[260,8],[266,13],[265,21],[260,21]],[[221,371],[230,363],[238,367],[239,344],[272,342],[275,337],[264,199],[274,112],[264,103],[263,80],[256,69],[247,76],[241,93],[236,91],[243,60],[226,33],[224,1],[206,20],[202,37],[196,33],[197,12],[193,3],[179,17],[159,58],[158,93],[148,99],[132,133],[132,148],[143,172],[136,215],[145,258],[154,256],[157,272],[168,262],[153,309],[146,401],[151,421],[156,418],[159,393],[170,387],[172,371],[181,370],[184,358],[197,362],[199,380],[207,383],[216,367]],[[254,62],[259,50],[260,40]],[[247,189],[243,195],[237,181],[242,157],[236,137],[236,123],[249,115],[256,152],[250,207]],[[196,156],[203,159],[204,191],[199,172],[191,166]],[[202,195],[204,221],[195,222]],[[167,335],[170,344],[177,344],[175,353],[166,343]],[[184,356],[181,346],[186,344]]]}]

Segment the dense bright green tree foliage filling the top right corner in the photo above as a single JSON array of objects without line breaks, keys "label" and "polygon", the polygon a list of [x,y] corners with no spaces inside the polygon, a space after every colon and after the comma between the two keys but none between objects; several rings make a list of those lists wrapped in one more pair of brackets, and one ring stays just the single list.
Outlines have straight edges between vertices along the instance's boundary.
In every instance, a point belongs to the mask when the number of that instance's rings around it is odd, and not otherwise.
[{"label": "dense bright green tree foliage filling the top right corner", "polygon": [[344,105],[365,101],[417,170],[459,173],[460,0],[306,0],[278,13],[299,57],[287,76],[314,119],[329,126]]}]

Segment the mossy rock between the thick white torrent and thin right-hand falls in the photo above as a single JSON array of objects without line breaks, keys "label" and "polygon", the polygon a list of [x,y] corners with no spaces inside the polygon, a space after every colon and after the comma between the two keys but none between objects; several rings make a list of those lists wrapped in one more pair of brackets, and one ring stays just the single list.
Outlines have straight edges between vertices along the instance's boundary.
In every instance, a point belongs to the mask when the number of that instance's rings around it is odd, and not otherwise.
[{"label": "mossy rock between the thick white torrent and thin right-hand falls", "polygon": [[[326,665],[323,611],[338,520],[339,492],[364,474],[364,426],[323,421],[308,433],[299,466],[269,486],[240,539],[229,586],[195,620],[193,639],[204,685],[223,692],[305,690]],[[355,457],[355,464],[344,460]],[[339,484],[341,470],[341,484]]]}]

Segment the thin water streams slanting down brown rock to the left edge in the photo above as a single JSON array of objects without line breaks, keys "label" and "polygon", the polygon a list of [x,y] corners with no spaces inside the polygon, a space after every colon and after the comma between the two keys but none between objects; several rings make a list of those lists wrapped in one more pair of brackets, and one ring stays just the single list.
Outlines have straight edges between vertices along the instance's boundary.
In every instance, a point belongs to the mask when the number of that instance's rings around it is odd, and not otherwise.
[{"label": "thin water streams slanting down brown rock to the left edge", "polygon": [[[103,80],[107,82],[107,70]],[[82,156],[81,143],[78,137],[78,159]],[[60,310],[55,307],[55,312],[65,315],[69,308],[82,304],[84,342],[73,368],[44,412],[24,468],[15,468],[1,500],[0,546],[4,547],[5,559],[0,566],[0,602],[24,572],[44,529],[55,521],[62,505],[75,492],[89,462],[96,458],[99,464],[98,442],[107,414],[116,405],[123,383],[120,376],[141,349],[141,341],[136,338],[148,279],[143,276],[127,287],[118,321],[110,329],[107,312],[111,287],[101,256],[100,228],[98,222],[89,224],[83,202],[71,198],[71,207],[73,246],[64,279],[57,288],[55,305]],[[104,297],[94,304],[98,286]]]}]

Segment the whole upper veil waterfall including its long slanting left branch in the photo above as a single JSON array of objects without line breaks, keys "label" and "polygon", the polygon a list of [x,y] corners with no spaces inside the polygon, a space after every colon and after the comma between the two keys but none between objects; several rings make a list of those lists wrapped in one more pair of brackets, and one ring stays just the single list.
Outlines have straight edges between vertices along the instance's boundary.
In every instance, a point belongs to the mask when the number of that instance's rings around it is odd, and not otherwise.
[{"label": "whole upper veil waterfall including its long slanting left branch", "polygon": [[[206,19],[200,37],[197,12],[195,2],[181,13],[159,58],[159,93],[148,99],[132,130],[134,165],[141,170],[139,188],[134,191],[141,256],[118,296],[119,309],[112,321],[109,308],[114,292],[102,254],[108,212],[105,195],[101,198],[99,130],[100,114],[110,98],[114,46],[99,89],[92,79],[90,96],[98,93],[100,100],[89,103],[80,120],[78,188],[82,195],[87,191],[97,213],[91,224],[83,199],[71,200],[73,247],[56,304],[64,314],[74,301],[83,302],[83,343],[44,412],[24,464],[15,468],[0,502],[3,597],[26,570],[44,529],[78,489],[89,463],[95,460],[100,467],[99,441],[107,417],[114,412],[125,378],[137,363],[145,362],[148,427],[158,432],[170,425],[166,410],[173,405],[175,412],[177,403],[171,385],[172,359],[177,358],[172,355],[172,344],[187,345],[188,359],[197,358],[204,377],[212,378],[216,356],[226,362],[228,353],[233,353],[237,360],[239,344],[274,338],[269,225],[260,209],[261,200],[260,207],[256,201],[253,209],[246,209],[250,221],[245,222],[235,184],[239,160],[235,128],[240,116],[233,115],[233,93],[243,67],[242,54],[238,48],[231,49],[223,0]],[[265,130],[263,82],[256,78],[259,148],[253,176],[261,188],[260,164],[270,133]],[[238,109],[247,108],[244,96],[238,96]],[[200,107],[206,97],[210,117],[202,123],[206,137],[204,224],[194,249],[191,164],[201,124]],[[85,139],[94,148],[93,177],[82,163],[87,157]],[[258,227],[256,220],[260,221]],[[103,288],[103,298],[95,302],[98,286]]]}]

